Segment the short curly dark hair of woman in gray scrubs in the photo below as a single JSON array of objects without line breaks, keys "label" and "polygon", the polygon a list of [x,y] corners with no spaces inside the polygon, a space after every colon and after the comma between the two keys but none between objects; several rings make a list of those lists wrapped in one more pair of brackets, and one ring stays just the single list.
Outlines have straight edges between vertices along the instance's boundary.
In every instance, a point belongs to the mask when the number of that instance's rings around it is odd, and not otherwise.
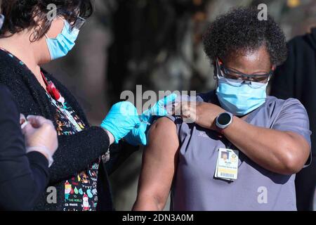
[{"label": "short curly dark hair of woman in gray scrubs", "polygon": [[233,8],[220,15],[203,35],[204,52],[214,63],[216,58],[241,56],[265,46],[273,65],[287,59],[287,43],[281,28],[268,15],[258,20],[258,10],[252,7]]}]

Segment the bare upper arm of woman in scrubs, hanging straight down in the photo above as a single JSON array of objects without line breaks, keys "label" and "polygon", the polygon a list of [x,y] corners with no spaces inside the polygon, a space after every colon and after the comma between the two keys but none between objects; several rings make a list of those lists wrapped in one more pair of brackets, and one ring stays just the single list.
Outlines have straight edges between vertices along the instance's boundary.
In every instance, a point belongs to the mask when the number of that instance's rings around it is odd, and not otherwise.
[{"label": "bare upper arm of woman in scrubs, hanging straight down", "polygon": [[165,205],[178,160],[179,141],[176,124],[166,117],[152,124],[143,153],[138,183],[138,198],[153,197]]}]

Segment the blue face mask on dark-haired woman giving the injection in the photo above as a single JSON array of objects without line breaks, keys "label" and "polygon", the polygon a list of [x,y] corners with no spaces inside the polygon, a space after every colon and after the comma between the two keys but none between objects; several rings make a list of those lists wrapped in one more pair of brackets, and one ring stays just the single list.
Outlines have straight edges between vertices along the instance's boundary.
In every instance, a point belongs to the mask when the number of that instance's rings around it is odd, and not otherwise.
[{"label": "blue face mask on dark-haired woman giving the injection", "polygon": [[62,32],[56,38],[48,38],[46,35],[46,43],[52,60],[66,56],[74,47],[74,42],[79,34],[79,30],[76,28],[71,29],[70,24],[66,20],[64,20],[64,23]]}]

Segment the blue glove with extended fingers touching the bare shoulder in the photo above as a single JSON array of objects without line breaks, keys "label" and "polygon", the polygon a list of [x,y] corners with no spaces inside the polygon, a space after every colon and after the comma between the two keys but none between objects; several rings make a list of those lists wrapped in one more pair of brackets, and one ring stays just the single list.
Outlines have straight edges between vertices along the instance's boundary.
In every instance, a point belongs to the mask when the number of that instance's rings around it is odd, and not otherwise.
[{"label": "blue glove with extended fingers touching the bare shoulder", "polygon": [[168,115],[166,105],[173,101],[176,101],[176,98],[176,94],[171,94],[157,101],[157,103],[154,104],[152,108],[145,110],[143,114],[140,115],[140,126],[133,128],[124,139],[133,146],[138,146],[140,144],[146,146],[147,130],[151,125],[153,117],[163,117],[165,115]]}]

